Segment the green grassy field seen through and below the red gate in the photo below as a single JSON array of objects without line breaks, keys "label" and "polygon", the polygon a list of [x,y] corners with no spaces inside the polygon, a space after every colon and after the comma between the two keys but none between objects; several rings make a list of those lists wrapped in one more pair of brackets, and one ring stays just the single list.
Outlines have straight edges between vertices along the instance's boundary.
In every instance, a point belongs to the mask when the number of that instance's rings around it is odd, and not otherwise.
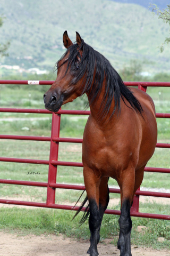
[{"label": "green grassy field seen through and below the red gate", "polygon": [[[46,88],[45,88],[46,91]],[[161,93],[159,93],[161,92]],[[155,101],[156,111],[158,113],[169,112],[169,89],[148,88],[148,93]],[[30,96],[31,94],[31,96]],[[9,97],[8,95],[13,95]],[[15,89],[11,86],[2,87],[1,107],[27,107],[44,108],[42,100],[42,91],[28,90],[27,87]],[[84,100],[85,101],[85,100]],[[83,109],[85,105],[78,99],[77,105]],[[69,109],[71,105],[64,106]],[[10,118],[16,118],[11,121]],[[18,119],[17,119],[18,118]],[[37,119],[36,119],[37,118]],[[47,118],[47,119],[39,119]],[[1,113],[0,133],[18,134],[18,135],[39,135],[50,136],[52,115],[45,114],[19,114],[19,113]],[[87,117],[62,116],[61,118],[61,137],[82,138],[84,126]],[[158,142],[169,142],[170,119],[158,118]],[[49,142],[21,141],[21,140],[0,140],[1,157],[31,158],[31,159],[49,159]],[[58,160],[81,162],[81,144],[60,143]],[[147,166],[170,168],[169,149],[155,150],[154,156],[150,159]],[[39,172],[37,175],[29,175],[28,172]],[[35,164],[7,163],[1,162],[1,179],[11,180],[29,180],[47,182],[48,166]],[[57,168],[58,183],[76,183],[83,184],[83,174],[81,167]],[[117,186],[113,179],[109,180],[110,186]],[[165,188],[169,189],[169,174],[145,173],[142,182],[143,187],[147,188]],[[23,201],[46,202],[46,188],[0,185],[1,198],[13,198]],[[56,189],[56,203],[74,205],[81,194],[81,191]],[[120,195],[111,194],[111,199],[119,198]],[[116,206],[109,205],[109,209],[120,210],[120,203]],[[157,203],[140,203],[140,211],[157,214],[169,214],[169,205]],[[88,224],[78,228],[77,220],[71,222],[73,212],[53,209],[12,209],[1,207],[0,228],[10,232],[18,230],[19,234],[43,234],[43,233],[63,233],[67,236],[76,236],[78,238],[87,238],[89,236]],[[80,217],[78,217],[80,219]],[[142,218],[132,218],[132,243],[152,247],[168,247],[170,239],[170,223],[168,221],[151,220]],[[143,233],[138,234],[137,227],[146,227]],[[157,231],[155,232],[155,227]],[[116,243],[118,235],[118,217],[105,215],[103,227],[101,229],[101,239],[114,237],[113,243]],[[158,237],[164,237],[163,243],[157,242]]]}]

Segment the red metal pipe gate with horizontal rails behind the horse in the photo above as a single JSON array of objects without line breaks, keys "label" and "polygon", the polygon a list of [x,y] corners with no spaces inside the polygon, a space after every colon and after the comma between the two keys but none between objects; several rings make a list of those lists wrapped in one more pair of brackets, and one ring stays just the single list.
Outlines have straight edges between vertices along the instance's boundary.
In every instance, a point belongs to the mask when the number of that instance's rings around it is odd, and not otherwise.
[{"label": "red metal pipe gate with horizontal rails behind the horse", "polygon": [[[53,83],[54,83],[54,81],[12,81],[12,80],[1,80],[0,81],[0,84],[52,85]],[[125,82],[125,85],[138,86],[138,88],[142,91],[146,91],[147,86],[170,87],[170,83],[160,83],[160,82]],[[39,159],[36,160],[36,159],[20,159],[20,158],[0,157],[0,161],[3,161],[3,162],[49,165],[48,182],[0,179],[0,183],[4,183],[4,184],[46,187],[47,188],[46,203],[25,202],[25,201],[16,201],[16,200],[8,200],[8,199],[0,199],[0,203],[16,204],[16,205],[27,205],[27,206],[38,206],[38,207],[48,207],[48,208],[55,208],[55,209],[64,209],[64,210],[77,211],[78,208],[79,208],[78,206],[73,207],[73,206],[70,206],[70,205],[55,204],[55,190],[56,190],[56,188],[84,190],[84,186],[64,185],[64,184],[56,183],[56,174],[57,174],[57,166],[58,165],[83,167],[82,163],[58,161],[58,145],[59,145],[59,142],[82,143],[82,139],[60,138],[60,120],[61,120],[61,115],[65,115],[65,114],[67,114],[67,115],[89,115],[90,111],[59,110],[57,112],[57,114],[54,114],[54,113],[52,113],[48,110],[45,110],[45,109],[0,108],[0,112],[37,113],[37,114],[52,114],[53,115],[52,116],[51,137],[0,135],[0,139],[50,141],[49,161],[39,160]],[[159,117],[159,118],[170,118],[170,114],[157,113],[156,116]],[[170,143],[157,143],[156,147],[158,147],[158,148],[170,148]],[[170,169],[157,168],[157,167],[145,167],[145,171],[146,172],[170,173]],[[111,193],[120,193],[120,189],[110,188],[109,190],[110,190]],[[139,188],[137,190],[137,192],[135,193],[135,196],[134,196],[134,202],[133,202],[133,205],[132,205],[132,208],[131,208],[131,216],[170,220],[170,215],[140,213],[139,212],[139,196],[140,195],[170,198],[170,193],[158,193],[158,192],[151,192],[151,191],[141,191],[140,188]],[[84,210],[84,208],[82,210]],[[117,210],[106,210],[105,213],[120,215],[121,212],[117,211]]]}]

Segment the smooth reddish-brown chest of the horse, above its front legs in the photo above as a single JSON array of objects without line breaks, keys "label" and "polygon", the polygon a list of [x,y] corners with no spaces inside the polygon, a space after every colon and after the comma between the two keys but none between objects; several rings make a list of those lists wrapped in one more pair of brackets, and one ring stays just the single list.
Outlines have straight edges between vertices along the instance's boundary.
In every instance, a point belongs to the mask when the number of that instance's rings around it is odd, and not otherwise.
[{"label": "smooth reddish-brown chest of the horse, above its front legs", "polygon": [[132,139],[127,142],[121,124],[118,124],[117,129],[115,127],[117,126],[114,125],[114,129],[105,129],[104,132],[88,119],[83,136],[82,161],[83,165],[94,170],[97,176],[116,179],[132,158]]}]

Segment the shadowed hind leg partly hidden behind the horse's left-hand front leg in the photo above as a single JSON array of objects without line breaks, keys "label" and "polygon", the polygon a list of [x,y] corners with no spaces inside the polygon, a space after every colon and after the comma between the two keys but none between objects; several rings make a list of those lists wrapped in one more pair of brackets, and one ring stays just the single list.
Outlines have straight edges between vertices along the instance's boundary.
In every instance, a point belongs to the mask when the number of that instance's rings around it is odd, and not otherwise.
[{"label": "shadowed hind leg partly hidden behind the horse's left-hand front leg", "polygon": [[[107,205],[109,202],[109,189],[108,189],[107,183],[108,183],[108,178],[104,177],[101,179],[100,186],[99,186],[99,214],[100,214],[101,221],[103,219],[104,212],[107,209]],[[97,233],[97,244],[99,243],[99,241],[100,241],[100,228]],[[91,237],[90,237],[90,243],[91,243]],[[90,251],[91,251],[91,245],[87,253],[90,254]]]}]

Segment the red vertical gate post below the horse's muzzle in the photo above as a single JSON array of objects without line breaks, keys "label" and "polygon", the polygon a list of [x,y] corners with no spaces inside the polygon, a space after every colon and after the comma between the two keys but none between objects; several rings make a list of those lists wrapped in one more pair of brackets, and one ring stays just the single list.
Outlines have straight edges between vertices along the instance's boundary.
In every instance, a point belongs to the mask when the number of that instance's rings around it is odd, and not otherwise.
[{"label": "red vertical gate post below the horse's muzzle", "polygon": [[54,137],[60,136],[60,121],[61,115],[57,115],[53,113],[52,116],[52,132],[50,139],[50,153],[49,153],[49,169],[48,169],[48,185],[47,185],[47,202],[46,204],[54,204],[55,203],[55,188],[50,188],[50,183],[56,183],[57,177],[57,166],[52,165],[52,160],[58,160],[58,148],[59,142],[54,142]]}]

